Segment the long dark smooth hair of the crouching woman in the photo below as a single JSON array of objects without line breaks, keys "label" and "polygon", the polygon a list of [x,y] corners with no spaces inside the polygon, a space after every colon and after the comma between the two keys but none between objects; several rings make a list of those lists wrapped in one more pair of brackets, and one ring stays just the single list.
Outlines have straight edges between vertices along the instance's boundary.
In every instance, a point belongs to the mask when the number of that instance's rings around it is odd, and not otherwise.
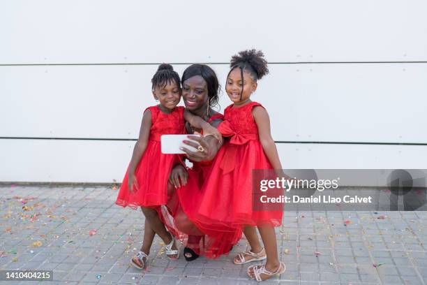
[{"label": "long dark smooth hair of the crouching woman", "polygon": [[188,78],[200,75],[207,83],[209,107],[213,107],[218,104],[218,92],[220,91],[220,85],[218,78],[216,77],[215,71],[205,64],[192,64],[186,68],[183,72],[181,83],[186,81]]}]

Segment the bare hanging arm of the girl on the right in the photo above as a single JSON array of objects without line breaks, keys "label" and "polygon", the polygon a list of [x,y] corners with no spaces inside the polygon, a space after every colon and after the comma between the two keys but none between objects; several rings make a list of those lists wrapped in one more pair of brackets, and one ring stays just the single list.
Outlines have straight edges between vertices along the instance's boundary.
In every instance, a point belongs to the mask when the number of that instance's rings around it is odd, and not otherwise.
[{"label": "bare hanging arm of the girl on the right", "polygon": [[276,171],[280,170],[281,174],[282,164],[278,158],[276,144],[273,138],[271,138],[269,114],[264,108],[255,106],[252,110],[252,115],[258,127],[262,149],[264,149],[264,153],[267,155],[271,166],[273,166]]}]

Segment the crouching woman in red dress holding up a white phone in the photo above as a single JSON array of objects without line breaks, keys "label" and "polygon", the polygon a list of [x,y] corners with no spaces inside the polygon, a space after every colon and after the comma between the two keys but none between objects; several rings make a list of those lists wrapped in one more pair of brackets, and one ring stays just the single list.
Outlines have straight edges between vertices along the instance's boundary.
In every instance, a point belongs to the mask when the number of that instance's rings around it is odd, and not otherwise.
[{"label": "crouching woman in red dress holding up a white phone", "polygon": [[[215,72],[207,65],[193,64],[184,71],[182,78],[182,96],[187,110],[202,117],[211,126],[217,127],[223,121],[223,115],[212,109],[218,103],[218,90],[220,85]],[[186,124],[189,134],[200,133]],[[186,148],[186,157],[193,163],[193,167],[186,170],[183,163],[178,163],[172,169],[170,182],[176,188],[170,191],[170,202],[167,204],[168,212],[163,211],[161,216],[170,232],[179,236],[180,233],[188,235],[184,257],[193,261],[200,254],[216,258],[227,254],[232,245],[241,238],[241,230],[236,228],[217,227],[200,231],[197,225],[191,222],[195,206],[202,199],[202,184],[211,170],[211,160],[215,157],[222,145],[221,138],[214,136],[192,137],[194,142],[186,141],[187,145],[197,148],[192,152]],[[170,219],[172,217],[172,219]],[[210,233],[221,232],[221,238],[212,238]],[[216,234],[218,236],[218,234]]]}]

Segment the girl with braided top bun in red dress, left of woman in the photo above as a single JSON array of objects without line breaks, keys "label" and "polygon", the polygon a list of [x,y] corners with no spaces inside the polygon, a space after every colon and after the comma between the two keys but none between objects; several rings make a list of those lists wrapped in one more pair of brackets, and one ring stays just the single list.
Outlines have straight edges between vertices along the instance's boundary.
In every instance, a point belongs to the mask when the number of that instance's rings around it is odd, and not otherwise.
[{"label": "girl with braided top bun in red dress, left of woman", "polygon": [[129,206],[134,210],[141,207],[145,215],[142,248],[132,258],[132,264],[140,269],[147,262],[155,233],[165,242],[167,257],[179,257],[174,236],[166,231],[158,217],[160,206],[166,205],[168,200],[167,188],[171,186],[168,185],[169,175],[177,159],[177,155],[161,153],[160,136],[184,133],[184,119],[205,133],[220,136],[202,118],[177,106],[181,100],[181,80],[170,64],[160,64],[151,82],[153,96],[159,104],[144,111],[140,136],[116,200],[116,204],[123,207]]}]

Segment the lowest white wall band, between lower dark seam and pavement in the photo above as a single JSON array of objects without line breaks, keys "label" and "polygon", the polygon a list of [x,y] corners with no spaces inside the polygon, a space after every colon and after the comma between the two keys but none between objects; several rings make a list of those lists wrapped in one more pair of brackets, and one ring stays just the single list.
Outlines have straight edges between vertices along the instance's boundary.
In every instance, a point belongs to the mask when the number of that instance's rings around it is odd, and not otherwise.
[{"label": "lowest white wall band, between lower dark seam and pavement", "polygon": [[[0,140],[2,181],[121,182],[134,142]],[[4,149],[7,149],[6,152]],[[425,169],[427,147],[406,145],[278,144],[287,169]],[[327,167],[325,167],[327,166]]]}]

